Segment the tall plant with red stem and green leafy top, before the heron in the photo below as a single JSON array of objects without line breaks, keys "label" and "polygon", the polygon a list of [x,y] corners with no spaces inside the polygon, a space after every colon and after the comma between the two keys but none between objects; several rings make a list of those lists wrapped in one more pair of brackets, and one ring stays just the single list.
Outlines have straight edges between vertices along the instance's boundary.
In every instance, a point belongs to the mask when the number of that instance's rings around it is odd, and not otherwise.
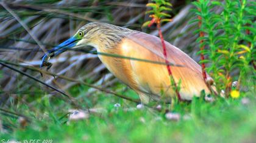
[{"label": "tall plant with red stem and green leafy top, before the heron", "polygon": [[166,53],[165,39],[163,38],[163,34],[161,31],[161,23],[171,21],[171,19],[169,19],[171,17],[171,15],[165,13],[165,12],[172,10],[171,8],[169,8],[171,6],[172,6],[171,3],[169,3],[165,0],[154,0],[154,3],[147,4],[147,7],[151,7],[152,10],[149,10],[146,13],[151,14],[151,15],[149,15],[149,17],[152,19],[151,19],[151,21],[144,22],[142,27],[145,27],[145,26],[151,27],[152,24],[157,24],[158,35],[160,36],[160,39],[161,39],[161,43],[162,43],[162,47],[163,47],[163,55],[165,56],[166,68],[167,68],[168,74],[170,76],[171,85],[173,87],[173,90],[176,92],[176,95],[177,95],[177,98],[179,99],[179,101],[182,101],[182,99],[180,98],[179,87],[177,86],[176,81],[174,80],[174,78],[172,76],[171,67],[169,65],[169,62],[167,61],[168,55]]}]

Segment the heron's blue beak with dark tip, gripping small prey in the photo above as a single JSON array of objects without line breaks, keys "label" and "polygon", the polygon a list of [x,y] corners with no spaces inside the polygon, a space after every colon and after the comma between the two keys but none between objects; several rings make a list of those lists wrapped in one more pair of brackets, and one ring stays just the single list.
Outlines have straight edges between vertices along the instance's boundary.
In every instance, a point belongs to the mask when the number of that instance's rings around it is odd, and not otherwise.
[{"label": "heron's blue beak with dark tip, gripping small prey", "polygon": [[79,41],[79,39],[77,39],[75,37],[71,37],[68,40],[62,42],[62,44],[57,45],[57,47],[54,47],[51,50],[48,50],[48,53],[46,53],[42,57],[40,67],[48,66],[48,68],[49,68],[49,64],[51,64],[51,63],[49,63],[48,60],[50,57],[60,55],[61,53],[65,52],[66,50],[76,46],[76,43],[78,41]]}]

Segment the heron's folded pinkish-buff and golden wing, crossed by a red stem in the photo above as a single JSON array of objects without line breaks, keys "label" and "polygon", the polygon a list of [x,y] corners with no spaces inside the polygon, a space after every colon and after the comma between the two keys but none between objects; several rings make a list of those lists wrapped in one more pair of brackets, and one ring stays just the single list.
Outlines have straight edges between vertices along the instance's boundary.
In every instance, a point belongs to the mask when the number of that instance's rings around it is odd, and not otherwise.
[{"label": "heron's folded pinkish-buff and golden wing, crossed by a red stem", "polygon": [[[202,77],[201,66],[187,54],[174,45],[165,42],[168,58],[174,64],[171,66],[175,81],[181,80],[180,95],[182,99],[191,99],[194,95],[199,96],[202,90],[209,92]],[[146,33],[132,33],[120,44],[121,53],[132,58],[146,59],[155,62],[165,62],[162,44],[156,36]],[[127,64],[127,63],[126,63]],[[132,68],[130,75],[132,81],[137,83],[137,92],[143,96],[155,98],[165,91],[169,96],[175,96],[170,87],[170,80],[166,65],[153,64],[150,62],[129,60]],[[182,65],[175,66],[175,65]]]}]

